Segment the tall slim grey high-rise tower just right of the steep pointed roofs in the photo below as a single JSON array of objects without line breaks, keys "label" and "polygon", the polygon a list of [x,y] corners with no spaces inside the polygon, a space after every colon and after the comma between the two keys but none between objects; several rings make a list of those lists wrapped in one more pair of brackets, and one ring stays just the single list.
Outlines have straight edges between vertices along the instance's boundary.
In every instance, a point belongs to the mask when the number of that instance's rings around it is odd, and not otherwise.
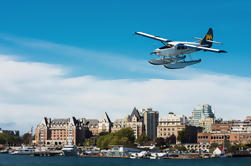
[{"label": "tall slim grey high-rise tower just right of the steep pointed roofs", "polygon": [[150,140],[157,137],[157,127],[159,121],[159,112],[153,111],[152,108],[142,110],[144,117],[145,133]]}]

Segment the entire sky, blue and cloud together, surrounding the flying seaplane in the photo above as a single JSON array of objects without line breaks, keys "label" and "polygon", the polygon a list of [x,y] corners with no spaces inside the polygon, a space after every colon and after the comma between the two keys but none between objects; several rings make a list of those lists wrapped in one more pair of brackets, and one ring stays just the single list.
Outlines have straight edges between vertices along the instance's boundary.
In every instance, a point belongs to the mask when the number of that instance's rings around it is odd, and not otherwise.
[{"label": "entire sky, blue and cloud together, surrounding the flying seaplane", "polygon": [[[28,131],[42,117],[112,120],[133,107],[191,116],[210,104],[217,117],[251,114],[250,1],[0,2],[0,127]],[[149,53],[170,40],[195,41],[212,27],[214,48],[181,70],[153,66]],[[28,118],[29,117],[29,118]]]}]

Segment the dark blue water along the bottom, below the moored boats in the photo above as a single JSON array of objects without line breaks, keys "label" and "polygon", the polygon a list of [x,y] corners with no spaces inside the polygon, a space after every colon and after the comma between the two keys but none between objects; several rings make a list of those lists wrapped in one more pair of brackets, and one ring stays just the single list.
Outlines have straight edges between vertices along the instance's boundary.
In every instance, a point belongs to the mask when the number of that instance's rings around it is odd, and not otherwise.
[{"label": "dark blue water along the bottom, below the moored boats", "polygon": [[33,157],[0,154],[0,166],[251,166],[251,158],[133,160],[63,156]]}]

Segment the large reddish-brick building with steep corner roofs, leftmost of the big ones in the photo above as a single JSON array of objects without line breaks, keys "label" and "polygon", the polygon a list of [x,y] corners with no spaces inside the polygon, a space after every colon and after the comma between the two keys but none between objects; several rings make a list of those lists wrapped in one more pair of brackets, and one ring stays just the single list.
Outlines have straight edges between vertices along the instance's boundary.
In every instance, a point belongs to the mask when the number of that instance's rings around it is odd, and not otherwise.
[{"label": "large reddish-brick building with steep corner roofs, leftmost of the big ones", "polygon": [[45,117],[36,128],[35,141],[42,146],[79,145],[84,143],[87,134],[87,124],[75,117],[53,120]]}]

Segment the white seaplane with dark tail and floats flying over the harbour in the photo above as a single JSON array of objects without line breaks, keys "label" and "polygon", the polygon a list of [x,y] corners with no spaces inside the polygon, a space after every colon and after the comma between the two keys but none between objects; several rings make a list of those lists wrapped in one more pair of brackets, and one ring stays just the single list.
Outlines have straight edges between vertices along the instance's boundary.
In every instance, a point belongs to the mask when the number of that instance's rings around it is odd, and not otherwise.
[{"label": "white seaplane with dark tail and floats flying over the harbour", "polygon": [[148,62],[152,65],[163,65],[168,69],[182,69],[190,65],[201,62],[201,59],[186,60],[187,55],[203,50],[215,53],[227,53],[225,50],[211,48],[213,43],[222,44],[213,40],[213,29],[209,28],[207,34],[203,38],[193,37],[198,40],[195,42],[172,41],[159,36],[150,35],[144,32],[135,32],[136,35],[144,36],[150,39],[158,40],[164,46],[155,49],[151,54],[155,54],[160,59],[151,59]]}]

